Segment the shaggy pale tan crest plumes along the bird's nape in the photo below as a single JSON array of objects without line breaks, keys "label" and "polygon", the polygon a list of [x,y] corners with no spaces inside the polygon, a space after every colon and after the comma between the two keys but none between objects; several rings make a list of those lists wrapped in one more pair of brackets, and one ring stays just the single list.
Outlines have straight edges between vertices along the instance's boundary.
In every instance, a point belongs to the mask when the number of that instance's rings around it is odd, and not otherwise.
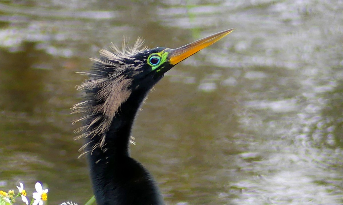
[{"label": "shaggy pale tan crest plumes along the bird's nape", "polygon": [[[106,73],[106,78],[96,73],[80,72],[89,78],[77,87],[78,90],[92,90],[95,87],[100,88],[100,90],[96,94],[91,92],[84,94],[84,97],[90,100],[80,102],[72,107],[72,113],[84,113],[84,116],[75,120],[73,124],[79,121],[90,122],[75,130],[76,133],[82,133],[75,140],[80,138],[93,139],[95,136],[101,137],[99,142],[94,143],[91,150],[82,153],[79,158],[88,152],[92,153],[96,148],[101,148],[103,151],[106,151],[106,148],[103,147],[105,145],[108,127],[111,125],[120,105],[131,94],[128,87],[132,83],[132,79],[125,78],[121,74],[128,69],[136,71],[143,65],[143,63],[139,65],[127,64],[123,59],[133,59],[132,56],[137,55],[142,50],[146,50],[146,47],[142,47],[143,43],[144,40],[138,38],[133,47],[130,48],[127,46],[125,39],[123,39],[122,50],[112,43],[111,51],[105,49],[99,51],[101,58],[90,58],[96,64],[101,65],[101,68],[93,68],[97,72],[104,73],[107,72],[106,69],[114,68],[113,72]],[[138,73],[139,71],[136,74]],[[92,100],[102,100],[104,103],[94,106],[92,105]],[[99,125],[91,128],[95,123]],[[91,142],[90,140],[88,143],[85,143],[79,151],[83,151]]]}]

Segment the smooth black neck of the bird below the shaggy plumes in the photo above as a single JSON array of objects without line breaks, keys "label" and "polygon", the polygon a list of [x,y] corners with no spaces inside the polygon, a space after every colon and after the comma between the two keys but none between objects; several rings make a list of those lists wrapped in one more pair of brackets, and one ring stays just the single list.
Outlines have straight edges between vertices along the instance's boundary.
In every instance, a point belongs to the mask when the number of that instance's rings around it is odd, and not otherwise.
[{"label": "smooth black neck of the bird below the shaggy plumes", "polygon": [[[98,205],[160,205],[162,195],[150,173],[129,155],[131,127],[146,93],[135,92],[122,103],[105,133],[88,139],[93,191]],[[87,139],[87,138],[86,138]]]}]

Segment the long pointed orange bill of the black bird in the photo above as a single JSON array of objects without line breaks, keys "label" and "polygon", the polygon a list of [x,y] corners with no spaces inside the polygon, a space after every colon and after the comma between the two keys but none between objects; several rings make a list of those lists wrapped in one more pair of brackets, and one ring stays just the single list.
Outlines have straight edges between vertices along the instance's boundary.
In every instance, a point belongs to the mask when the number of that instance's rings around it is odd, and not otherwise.
[{"label": "long pointed orange bill of the black bird", "polygon": [[194,53],[197,53],[201,49],[212,45],[214,42],[220,40],[224,36],[228,35],[234,30],[228,29],[225,31],[221,31],[219,33],[215,33],[211,36],[205,37],[203,39],[194,41],[193,43],[184,45],[182,47],[179,47],[177,49],[166,49],[166,52],[168,52],[168,58],[169,58],[169,63],[171,65],[176,65],[180,63],[182,60],[185,60],[189,56],[193,55]]}]

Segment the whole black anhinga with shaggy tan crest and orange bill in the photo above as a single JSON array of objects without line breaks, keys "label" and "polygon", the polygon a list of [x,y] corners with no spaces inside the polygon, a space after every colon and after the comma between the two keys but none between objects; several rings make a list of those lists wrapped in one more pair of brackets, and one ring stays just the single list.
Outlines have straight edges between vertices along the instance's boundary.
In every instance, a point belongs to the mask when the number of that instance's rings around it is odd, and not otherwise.
[{"label": "whole black anhinga with shaggy tan crest and orange bill", "polygon": [[151,174],[130,157],[131,127],[141,103],[164,73],[182,60],[218,41],[234,29],[218,32],[177,49],[133,48],[101,50],[93,69],[80,85],[84,101],[74,112],[83,113],[79,128],[85,137],[93,192],[98,205],[160,205],[161,192]]}]

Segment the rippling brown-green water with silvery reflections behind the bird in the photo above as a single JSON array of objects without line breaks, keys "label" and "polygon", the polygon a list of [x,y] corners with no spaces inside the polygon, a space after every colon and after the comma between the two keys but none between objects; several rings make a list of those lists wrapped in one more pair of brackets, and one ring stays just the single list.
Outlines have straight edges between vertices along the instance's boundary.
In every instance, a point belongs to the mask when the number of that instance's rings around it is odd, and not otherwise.
[{"label": "rippling brown-green water with silvery reflections behind the bird", "polygon": [[343,1],[0,3],[0,189],[92,195],[69,108],[87,57],[122,36],[179,47],[237,29],[170,70],[132,156],[167,204],[343,203]]}]

